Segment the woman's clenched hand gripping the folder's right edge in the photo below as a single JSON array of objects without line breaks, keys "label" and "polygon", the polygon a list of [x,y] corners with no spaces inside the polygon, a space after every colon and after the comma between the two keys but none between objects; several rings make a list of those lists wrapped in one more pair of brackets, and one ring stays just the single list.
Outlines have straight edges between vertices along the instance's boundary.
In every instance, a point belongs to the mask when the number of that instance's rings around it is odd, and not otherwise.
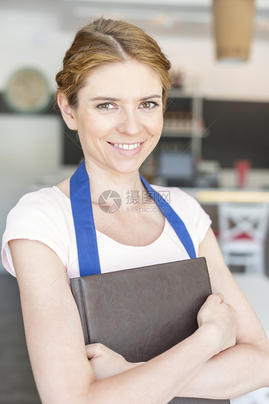
[{"label": "woman's clenched hand gripping the folder's right edge", "polygon": [[222,293],[213,293],[206,299],[198,312],[197,322],[199,328],[206,324],[213,326],[216,354],[236,345],[236,311],[224,303]]}]

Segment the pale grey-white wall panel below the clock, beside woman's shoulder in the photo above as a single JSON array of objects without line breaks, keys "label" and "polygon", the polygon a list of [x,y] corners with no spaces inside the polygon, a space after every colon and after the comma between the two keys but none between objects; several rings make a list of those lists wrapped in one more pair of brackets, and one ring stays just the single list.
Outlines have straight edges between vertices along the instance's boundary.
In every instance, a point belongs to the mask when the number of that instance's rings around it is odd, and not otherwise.
[{"label": "pale grey-white wall panel below the clock, beside woman's shoulder", "polygon": [[[58,172],[62,133],[55,115],[0,114],[0,234],[8,212],[44,174]],[[2,263],[0,265],[2,267]]]}]

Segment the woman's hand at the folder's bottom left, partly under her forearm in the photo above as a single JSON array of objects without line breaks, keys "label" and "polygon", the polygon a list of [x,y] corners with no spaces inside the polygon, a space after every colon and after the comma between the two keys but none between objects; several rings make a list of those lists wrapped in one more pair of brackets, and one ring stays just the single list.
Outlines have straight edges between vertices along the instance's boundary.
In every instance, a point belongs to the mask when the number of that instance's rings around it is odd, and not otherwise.
[{"label": "woman's hand at the folder's bottom left, partly under her forearm", "polygon": [[85,348],[96,380],[117,375],[140,364],[127,362],[119,353],[100,343],[86,345]]}]

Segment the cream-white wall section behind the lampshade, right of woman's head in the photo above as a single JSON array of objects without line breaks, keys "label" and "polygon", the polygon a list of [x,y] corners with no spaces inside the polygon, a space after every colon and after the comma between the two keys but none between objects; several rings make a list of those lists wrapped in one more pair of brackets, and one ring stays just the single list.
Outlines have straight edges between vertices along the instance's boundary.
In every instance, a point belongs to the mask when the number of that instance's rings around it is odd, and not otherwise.
[{"label": "cream-white wall section behind the lampshade, right of woman's head", "polygon": [[209,99],[269,101],[269,41],[255,40],[250,60],[221,63],[212,38],[160,38],[172,66],[186,72],[187,86]]}]

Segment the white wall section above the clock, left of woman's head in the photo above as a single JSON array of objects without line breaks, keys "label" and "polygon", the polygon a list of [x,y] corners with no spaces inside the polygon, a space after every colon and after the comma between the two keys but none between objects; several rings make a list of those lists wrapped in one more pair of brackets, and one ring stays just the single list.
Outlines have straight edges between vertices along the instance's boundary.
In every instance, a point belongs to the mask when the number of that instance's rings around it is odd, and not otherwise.
[{"label": "white wall section above the clock, left of woman's head", "polygon": [[62,32],[57,18],[33,11],[0,13],[0,55],[5,63],[0,69],[0,91],[10,75],[21,67],[35,67],[54,88],[55,73],[60,67],[72,33]]}]

